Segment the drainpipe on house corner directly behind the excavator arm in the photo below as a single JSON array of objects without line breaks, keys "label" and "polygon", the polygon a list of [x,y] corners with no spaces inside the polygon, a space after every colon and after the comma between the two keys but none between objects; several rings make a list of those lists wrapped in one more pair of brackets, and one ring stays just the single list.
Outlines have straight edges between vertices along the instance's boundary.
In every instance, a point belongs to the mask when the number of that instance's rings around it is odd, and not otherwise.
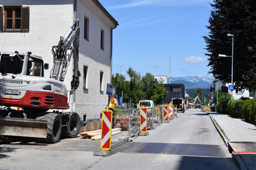
[{"label": "drainpipe on house corner directly behind the excavator arm", "polygon": [[[74,18],[76,19],[76,4],[77,1],[74,0]],[[78,60],[78,54],[77,54],[77,38],[73,41],[73,47],[75,47],[73,52],[73,65],[74,65],[74,76],[77,77],[77,60]],[[75,104],[76,104],[76,89],[73,91],[73,112],[75,112]]]}]

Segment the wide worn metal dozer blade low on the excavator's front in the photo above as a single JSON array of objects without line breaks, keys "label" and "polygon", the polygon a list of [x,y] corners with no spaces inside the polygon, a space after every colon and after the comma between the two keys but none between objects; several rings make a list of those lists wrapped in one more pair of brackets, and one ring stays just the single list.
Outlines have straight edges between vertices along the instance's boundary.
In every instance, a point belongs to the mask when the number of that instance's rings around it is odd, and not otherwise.
[{"label": "wide worn metal dozer blade low on the excavator's front", "polygon": [[46,138],[47,122],[37,119],[0,117],[0,135]]}]

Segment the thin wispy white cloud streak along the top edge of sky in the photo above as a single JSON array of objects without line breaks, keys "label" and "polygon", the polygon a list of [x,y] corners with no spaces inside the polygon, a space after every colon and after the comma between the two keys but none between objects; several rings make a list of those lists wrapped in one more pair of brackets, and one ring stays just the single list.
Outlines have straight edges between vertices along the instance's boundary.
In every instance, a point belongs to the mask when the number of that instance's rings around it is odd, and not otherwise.
[{"label": "thin wispy white cloud streak along the top edge of sky", "polygon": [[140,7],[140,6],[184,6],[185,5],[197,5],[200,3],[206,3],[206,0],[135,0],[129,4],[123,4],[118,6],[106,7],[107,10],[119,9],[119,8],[131,8],[131,7]]}]

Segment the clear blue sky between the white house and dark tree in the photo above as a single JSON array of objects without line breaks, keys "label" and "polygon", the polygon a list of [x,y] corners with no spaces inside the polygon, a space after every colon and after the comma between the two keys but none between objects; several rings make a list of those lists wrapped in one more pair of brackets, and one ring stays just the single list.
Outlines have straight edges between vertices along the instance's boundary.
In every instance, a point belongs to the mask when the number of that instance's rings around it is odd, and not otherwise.
[{"label": "clear blue sky between the white house and dark tree", "polygon": [[112,74],[132,67],[141,75],[212,76],[202,36],[212,0],[100,0],[118,21],[113,30]]}]

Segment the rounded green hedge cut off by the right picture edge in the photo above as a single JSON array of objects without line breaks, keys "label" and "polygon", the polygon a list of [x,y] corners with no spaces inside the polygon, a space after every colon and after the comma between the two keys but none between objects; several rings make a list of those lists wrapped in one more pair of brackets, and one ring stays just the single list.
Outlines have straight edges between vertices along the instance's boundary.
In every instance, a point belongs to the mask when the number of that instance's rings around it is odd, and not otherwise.
[{"label": "rounded green hedge cut off by the right picture edge", "polygon": [[255,123],[256,118],[256,99],[247,99],[243,105],[243,116],[244,119]]}]

